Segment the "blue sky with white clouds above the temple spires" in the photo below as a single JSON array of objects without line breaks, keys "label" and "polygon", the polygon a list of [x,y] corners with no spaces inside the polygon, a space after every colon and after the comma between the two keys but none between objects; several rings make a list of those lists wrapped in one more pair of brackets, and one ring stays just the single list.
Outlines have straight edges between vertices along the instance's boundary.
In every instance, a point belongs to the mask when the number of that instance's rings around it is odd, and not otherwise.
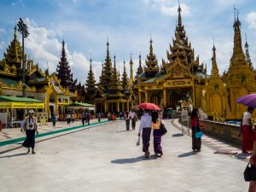
[{"label": "blue sky with white clouds above the temple spires", "polygon": [[[219,72],[228,69],[234,39],[234,4],[245,33],[249,53],[256,67],[256,3],[254,0],[180,0],[182,20],[195,55],[212,68],[212,44],[217,49]],[[67,60],[74,79],[84,84],[90,67],[98,79],[106,58],[107,41],[118,69],[130,74],[129,61],[137,72],[138,55],[149,53],[150,36],[159,64],[166,60],[177,23],[177,0],[0,0],[0,60],[14,38],[15,23],[21,17],[29,28],[25,51],[35,63],[53,73],[66,43]],[[20,34],[19,34],[19,39]]]}]

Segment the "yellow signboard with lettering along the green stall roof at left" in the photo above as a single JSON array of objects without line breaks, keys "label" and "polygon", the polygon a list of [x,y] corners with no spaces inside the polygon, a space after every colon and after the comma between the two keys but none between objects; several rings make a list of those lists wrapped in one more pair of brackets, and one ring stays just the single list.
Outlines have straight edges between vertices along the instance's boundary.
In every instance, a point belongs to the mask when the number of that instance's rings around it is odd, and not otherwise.
[{"label": "yellow signboard with lettering along the green stall roof at left", "polygon": [[0,102],[0,108],[44,108],[44,102]]}]

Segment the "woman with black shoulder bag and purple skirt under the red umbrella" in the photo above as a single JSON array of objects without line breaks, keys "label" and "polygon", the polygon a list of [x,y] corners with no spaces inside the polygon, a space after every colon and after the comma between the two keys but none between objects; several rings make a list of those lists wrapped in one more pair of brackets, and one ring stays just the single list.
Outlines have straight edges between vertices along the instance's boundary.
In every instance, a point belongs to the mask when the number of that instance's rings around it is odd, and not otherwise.
[{"label": "woman with black shoulder bag and purple skirt under the red umbrella", "polygon": [[153,130],[154,155],[156,157],[161,157],[163,155],[163,150],[162,150],[162,146],[161,146],[160,125],[161,125],[161,120],[158,118],[158,113],[153,112],[150,127],[151,127],[151,130]]}]

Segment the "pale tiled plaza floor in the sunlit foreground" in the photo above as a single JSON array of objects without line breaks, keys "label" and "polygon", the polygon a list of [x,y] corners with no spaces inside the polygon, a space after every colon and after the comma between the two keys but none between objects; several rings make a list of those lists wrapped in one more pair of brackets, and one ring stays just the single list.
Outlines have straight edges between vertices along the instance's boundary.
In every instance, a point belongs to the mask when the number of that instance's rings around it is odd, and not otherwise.
[{"label": "pale tiled plaza floor in the sunlit foreground", "polygon": [[245,161],[213,154],[204,145],[194,154],[191,138],[173,137],[180,131],[171,120],[164,122],[168,133],[158,159],[143,158],[137,131],[125,131],[125,121],[37,143],[35,155],[26,154],[26,148],[0,154],[0,191],[247,191]]}]

